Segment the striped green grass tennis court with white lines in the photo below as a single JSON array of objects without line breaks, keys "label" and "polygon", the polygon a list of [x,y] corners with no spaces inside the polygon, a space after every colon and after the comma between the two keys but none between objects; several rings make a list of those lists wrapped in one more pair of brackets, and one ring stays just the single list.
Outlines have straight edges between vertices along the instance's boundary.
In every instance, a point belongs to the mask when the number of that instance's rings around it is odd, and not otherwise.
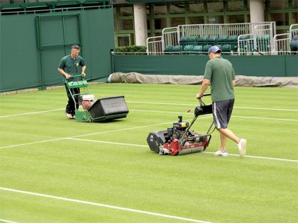
[{"label": "striped green grass tennis court with white lines", "polygon": [[192,120],[199,88],[92,85],[126,96],[128,117],[108,123],[67,120],[65,88],[1,95],[0,222],[298,222],[297,89],[235,88],[244,159],[231,141],[230,156],[211,154],[216,131],[204,153],[151,152],[149,132]]}]

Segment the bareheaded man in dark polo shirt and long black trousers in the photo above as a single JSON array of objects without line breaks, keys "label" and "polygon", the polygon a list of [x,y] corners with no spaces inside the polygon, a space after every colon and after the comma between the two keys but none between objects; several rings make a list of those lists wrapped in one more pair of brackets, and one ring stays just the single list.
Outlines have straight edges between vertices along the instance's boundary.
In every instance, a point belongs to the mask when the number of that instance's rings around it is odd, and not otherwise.
[{"label": "bareheaded man in dark polo shirt and long black trousers", "polygon": [[[79,46],[73,45],[72,50],[70,51],[70,55],[67,55],[65,57],[62,57],[58,71],[63,75],[64,79],[71,79],[72,74],[82,74],[83,76],[86,76],[85,74],[86,70],[86,64],[82,57],[79,56]],[[79,93],[79,88],[67,88],[65,84],[68,102],[65,108],[65,113],[67,118],[75,118],[75,108],[79,107],[79,101],[77,96],[75,97],[75,102],[72,100],[72,95],[70,94],[70,91],[72,91],[72,94]]]}]

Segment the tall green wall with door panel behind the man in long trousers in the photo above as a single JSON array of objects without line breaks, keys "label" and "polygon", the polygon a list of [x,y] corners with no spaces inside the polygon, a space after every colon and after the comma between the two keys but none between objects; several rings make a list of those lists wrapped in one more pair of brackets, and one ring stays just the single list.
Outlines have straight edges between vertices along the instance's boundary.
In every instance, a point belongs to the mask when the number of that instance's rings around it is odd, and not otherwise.
[{"label": "tall green wall with door panel behind the man in long trousers", "polygon": [[113,8],[0,15],[0,91],[62,84],[57,72],[70,46],[82,46],[87,79],[111,74]]}]

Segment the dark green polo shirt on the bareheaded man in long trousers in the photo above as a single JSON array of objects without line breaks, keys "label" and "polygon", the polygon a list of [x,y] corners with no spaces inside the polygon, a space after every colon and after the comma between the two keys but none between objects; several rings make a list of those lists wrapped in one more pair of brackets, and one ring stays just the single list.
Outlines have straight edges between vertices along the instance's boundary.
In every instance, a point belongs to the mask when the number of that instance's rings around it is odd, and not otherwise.
[{"label": "dark green polo shirt on the bareheaded man in long trousers", "polygon": [[[62,57],[59,68],[63,69],[67,74],[81,74],[82,67],[84,67],[85,61],[83,57],[77,56],[77,58],[72,59],[70,55]],[[64,76],[64,75],[63,75]]]}]

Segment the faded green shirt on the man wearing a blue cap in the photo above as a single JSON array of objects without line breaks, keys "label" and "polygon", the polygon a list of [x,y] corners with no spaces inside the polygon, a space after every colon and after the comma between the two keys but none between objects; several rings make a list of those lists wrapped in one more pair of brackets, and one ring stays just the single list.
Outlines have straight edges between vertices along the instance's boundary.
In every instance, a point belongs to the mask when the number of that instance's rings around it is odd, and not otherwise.
[{"label": "faded green shirt on the man wearing a blue cap", "polygon": [[235,98],[233,80],[235,71],[228,59],[215,57],[206,63],[204,79],[210,80],[213,102]]}]

